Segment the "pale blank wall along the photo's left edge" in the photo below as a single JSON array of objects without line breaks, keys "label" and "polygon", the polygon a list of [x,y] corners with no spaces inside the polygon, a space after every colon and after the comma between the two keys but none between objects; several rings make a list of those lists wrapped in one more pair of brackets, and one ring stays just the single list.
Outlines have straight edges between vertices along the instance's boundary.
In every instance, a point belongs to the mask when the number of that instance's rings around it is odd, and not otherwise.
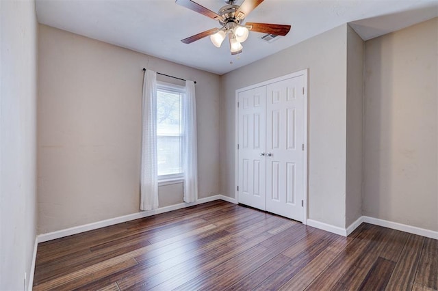
[{"label": "pale blank wall along the photo's left edge", "polygon": [[34,1],[0,1],[0,27],[0,289],[23,290],[37,220]]}]

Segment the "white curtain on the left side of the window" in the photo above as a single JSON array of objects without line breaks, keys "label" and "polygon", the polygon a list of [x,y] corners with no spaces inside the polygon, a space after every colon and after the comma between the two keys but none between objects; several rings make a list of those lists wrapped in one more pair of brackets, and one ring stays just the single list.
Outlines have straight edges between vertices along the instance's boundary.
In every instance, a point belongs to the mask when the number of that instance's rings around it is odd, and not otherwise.
[{"label": "white curtain on the left side of the window", "polygon": [[157,73],[144,72],[142,95],[142,169],[140,209],[158,208],[157,174]]}]

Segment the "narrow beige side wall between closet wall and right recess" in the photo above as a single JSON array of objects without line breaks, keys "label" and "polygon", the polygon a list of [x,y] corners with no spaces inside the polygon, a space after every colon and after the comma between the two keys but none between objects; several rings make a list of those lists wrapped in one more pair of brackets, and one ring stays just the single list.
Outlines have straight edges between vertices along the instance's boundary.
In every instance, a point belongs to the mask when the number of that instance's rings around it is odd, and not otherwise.
[{"label": "narrow beige side wall between closet wall and right recess", "polygon": [[346,227],[362,216],[363,46],[348,26]]}]

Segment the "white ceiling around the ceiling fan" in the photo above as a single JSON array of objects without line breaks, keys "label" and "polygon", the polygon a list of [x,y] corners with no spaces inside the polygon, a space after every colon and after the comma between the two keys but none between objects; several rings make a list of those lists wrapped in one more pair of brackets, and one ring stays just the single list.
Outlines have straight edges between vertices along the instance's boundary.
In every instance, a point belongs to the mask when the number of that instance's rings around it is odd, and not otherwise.
[{"label": "white ceiling around the ceiling fan", "polygon": [[[225,5],[223,0],[195,1],[214,12]],[[175,0],[36,0],[36,12],[45,25],[224,74],[344,23],[364,40],[396,31],[438,16],[438,0],[265,0],[245,21],[288,24],[291,31],[272,43],[259,39],[263,33],[250,32],[243,53],[233,57],[227,42],[220,48],[208,37],[180,42],[220,25]]]}]

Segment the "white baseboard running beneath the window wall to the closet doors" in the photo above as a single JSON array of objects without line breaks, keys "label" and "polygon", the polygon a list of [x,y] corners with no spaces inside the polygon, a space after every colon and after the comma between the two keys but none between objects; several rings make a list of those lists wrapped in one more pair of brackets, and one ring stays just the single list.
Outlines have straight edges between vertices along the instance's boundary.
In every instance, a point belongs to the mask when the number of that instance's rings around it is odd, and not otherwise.
[{"label": "white baseboard running beneath the window wall to the closet doors", "polygon": [[193,202],[193,203],[180,203],[180,204],[175,204],[172,206],[158,208],[155,210],[142,211],[142,212],[137,212],[137,213],[133,213],[133,214],[127,214],[127,215],[124,215],[122,217],[114,217],[112,219],[105,219],[103,221],[96,221],[96,222],[88,223],[85,225],[78,225],[75,227],[66,228],[65,230],[57,230],[56,232],[48,232],[47,234],[38,234],[38,236],[37,236],[38,243],[44,243],[44,242],[47,242],[49,240],[55,240],[56,238],[63,238],[64,236],[71,236],[73,234],[80,234],[81,232],[88,232],[89,230],[96,230],[96,229],[101,228],[101,227],[110,226],[110,225],[114,225],[117,223],[123,223],[123,222],[131,221],[134,219],[141,219],[144,217],[150,217],[150,216],[155,215],[155,214],[161,214],[164,212],[169,212],[172,210],[177,210],[177,209],[181,209],[181,208],[185,208],[185,207],[189,207],[189,206],[203,204],[203,203],[211,202],[211,201],[215,201],[215,200],[224,200],[224,201],[231,202],[231,203],[237,203],[237,202],[234,202],[235,199],[233,199],[233,198],[230,198],[230,197],[227,197],[224,195],[214,195],[214,196],[210,196],[210,197],[197,199],[196,202]]}]

